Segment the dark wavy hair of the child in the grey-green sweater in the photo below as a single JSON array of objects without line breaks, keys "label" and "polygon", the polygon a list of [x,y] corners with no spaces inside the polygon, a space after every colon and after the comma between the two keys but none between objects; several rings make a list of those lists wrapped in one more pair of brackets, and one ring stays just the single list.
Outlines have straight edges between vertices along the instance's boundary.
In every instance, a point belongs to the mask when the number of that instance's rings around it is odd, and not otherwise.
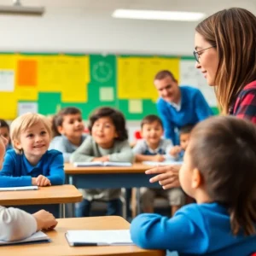
[{"label": "dark wavy hair of the child in the grey-green sweater", "polygon": [[109,107],[97,108],[90,115],[90,124],[88,126],[89,131],[91,132],[92,126],[96,122],[97,119],[102,117],[108,117],[112,120],[115,130],[118,134],[118,137],[115,139],[118,141],[125,141],[128,139],[128,133],[125,128],[125,116],[119,110]]}]

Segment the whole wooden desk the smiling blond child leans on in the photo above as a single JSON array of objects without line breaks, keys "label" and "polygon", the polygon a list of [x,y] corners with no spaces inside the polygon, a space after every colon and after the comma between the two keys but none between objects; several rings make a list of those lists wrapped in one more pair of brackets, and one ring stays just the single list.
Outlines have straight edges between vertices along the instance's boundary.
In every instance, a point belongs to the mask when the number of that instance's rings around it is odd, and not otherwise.
[{"label": "whole wooden desk the smiling blond child leans on", "polygon": [[83,196],[73,185],[39,187],[38,190],[1,191],[0,205],[19,207],[26,212],[46,209],[55,217],[65,217],[65,203],[82,201]]}]

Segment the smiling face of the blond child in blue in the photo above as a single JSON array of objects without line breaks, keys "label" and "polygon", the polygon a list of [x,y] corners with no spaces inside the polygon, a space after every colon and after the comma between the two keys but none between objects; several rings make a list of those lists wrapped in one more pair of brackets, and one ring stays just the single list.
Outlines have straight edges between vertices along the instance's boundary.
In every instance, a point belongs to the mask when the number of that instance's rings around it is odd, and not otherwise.
[{"label": "smiling face of the blond child in blue", "polygon": [[20,141],[15,141],[15,147],[23,149],[26,156],[42,156],[49,148],[49,141],[44,123],[38,122],[20,133]]}]

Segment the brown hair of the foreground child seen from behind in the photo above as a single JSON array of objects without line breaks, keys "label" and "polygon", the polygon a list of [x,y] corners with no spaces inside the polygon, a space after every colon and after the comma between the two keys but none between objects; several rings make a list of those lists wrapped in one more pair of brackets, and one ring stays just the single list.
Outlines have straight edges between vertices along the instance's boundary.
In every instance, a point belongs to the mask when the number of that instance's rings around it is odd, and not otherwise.
[{"label": "brown hair of the foreground child seen from behind", "polygon": [[233,234],[255,234],[256,126],[232,116],[207,119],[193,129],[188,150],[211,200],[230,212]]}]

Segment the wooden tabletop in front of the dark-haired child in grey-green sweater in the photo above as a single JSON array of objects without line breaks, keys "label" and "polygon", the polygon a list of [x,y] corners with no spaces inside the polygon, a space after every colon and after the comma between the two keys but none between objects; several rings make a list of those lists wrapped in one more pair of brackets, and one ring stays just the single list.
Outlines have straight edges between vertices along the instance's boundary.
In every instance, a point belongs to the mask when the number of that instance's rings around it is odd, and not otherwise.
[{"label": "wooden tabletop in front of the dark-haired child in grey-green sweater", "polygon": [[135,163],[132,166],[86,166],[76,167],[73,164],[65,163],[64,170],[66,174],[97,174],[97,173],[144,173],[154,166],[146,166],[141,163]]}]

